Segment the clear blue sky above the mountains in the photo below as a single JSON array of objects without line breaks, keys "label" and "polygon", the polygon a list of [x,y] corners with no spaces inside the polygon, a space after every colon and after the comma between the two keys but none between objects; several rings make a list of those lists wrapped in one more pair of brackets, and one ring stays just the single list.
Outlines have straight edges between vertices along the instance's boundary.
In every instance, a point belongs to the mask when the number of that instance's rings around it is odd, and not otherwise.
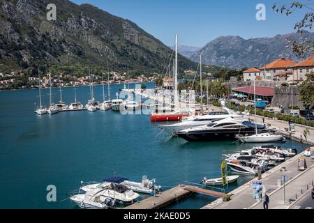
[{"label": "clear blue sky above the mountains", "polygon": [[[296,10],[292,15],[276,14],[274,3],[292,0],[71,0],[89,3],[102,10],[135,22],[144,31],[174,45],[174,34],[179,45],[203,47],[219,36],[241,38],[273,37],[294,32],[294,24],[309,10]],[[293,0],[294,1],[294,0]],[[309,6],[313,0],[300,0]],[[266,20],[257,21],[257,3],[266,6]]]}]

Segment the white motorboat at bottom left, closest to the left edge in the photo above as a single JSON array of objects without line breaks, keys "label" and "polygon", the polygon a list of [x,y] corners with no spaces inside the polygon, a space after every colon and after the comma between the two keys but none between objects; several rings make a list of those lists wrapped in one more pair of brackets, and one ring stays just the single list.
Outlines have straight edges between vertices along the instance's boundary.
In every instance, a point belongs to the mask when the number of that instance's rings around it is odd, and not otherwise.
[{"label": "white motorboat at bottom left, closest to the left edge", "polygon": [[87,192],[85,194],[75,194],[70,197],[77,206],[84,209],[108,209],[114,208],[116,201],[110,197],[105,197],[100,192]]}]

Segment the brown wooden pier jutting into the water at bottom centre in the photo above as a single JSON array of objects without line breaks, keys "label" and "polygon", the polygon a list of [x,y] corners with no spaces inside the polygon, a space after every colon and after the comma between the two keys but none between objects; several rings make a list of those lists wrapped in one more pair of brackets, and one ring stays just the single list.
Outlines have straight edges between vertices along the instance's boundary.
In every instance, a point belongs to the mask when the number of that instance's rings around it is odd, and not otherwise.
[{"label": "brown wooden pier jutting into the water at bottom centre", "polygon": [[171,203],[178,202],[179,200],[188,197],[188,195],[192,194],[193,192],[213,197],[223,197],[225,195],[221,192],[205,190],[199,187],[179,185],[177,187],[173,187],[170,190],[162,192],[161,194],[156,194],[156,197],[149,197],[130,206],[127,206],[124,209],[160,209],[170,205]]}]

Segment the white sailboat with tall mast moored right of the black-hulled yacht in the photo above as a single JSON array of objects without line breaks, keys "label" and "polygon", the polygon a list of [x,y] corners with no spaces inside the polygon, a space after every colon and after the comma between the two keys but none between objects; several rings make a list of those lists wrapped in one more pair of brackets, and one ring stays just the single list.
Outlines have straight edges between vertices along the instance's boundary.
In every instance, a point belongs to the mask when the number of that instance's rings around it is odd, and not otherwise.
[{"label": "white sailboat with tall mast moored right of the black-hulled yacht", "polygon": [[239,137],[241,142],[246,143],[266,143],[266,142],[274,142],[274,141],[282,141],[285,139],[281,134],[270,134],[269,132],[257,132],[257,121],[256,121],[256,95],[255,95],[255,79],[254,83],[254,112],[255,112],[255,134],[250,136],[242,136]]}]

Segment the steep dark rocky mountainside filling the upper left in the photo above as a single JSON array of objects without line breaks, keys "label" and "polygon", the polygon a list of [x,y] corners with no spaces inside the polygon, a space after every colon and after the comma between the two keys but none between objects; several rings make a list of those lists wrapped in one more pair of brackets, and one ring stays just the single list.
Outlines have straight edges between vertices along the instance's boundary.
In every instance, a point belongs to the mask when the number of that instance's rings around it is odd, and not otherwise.
[{"label": "steep dark rocky mountainside filling the upper left", "polygon": [[[48,21],[46,7],[57,6]],[[0,64],[28,68],[35,64],[107,66],[162,72],[171,49],[130,20],[89,4],[67,0],[0,0]],[[181,69],[197,64],[179,55]],[[0,70],[1,72],[1,70]]]}]

